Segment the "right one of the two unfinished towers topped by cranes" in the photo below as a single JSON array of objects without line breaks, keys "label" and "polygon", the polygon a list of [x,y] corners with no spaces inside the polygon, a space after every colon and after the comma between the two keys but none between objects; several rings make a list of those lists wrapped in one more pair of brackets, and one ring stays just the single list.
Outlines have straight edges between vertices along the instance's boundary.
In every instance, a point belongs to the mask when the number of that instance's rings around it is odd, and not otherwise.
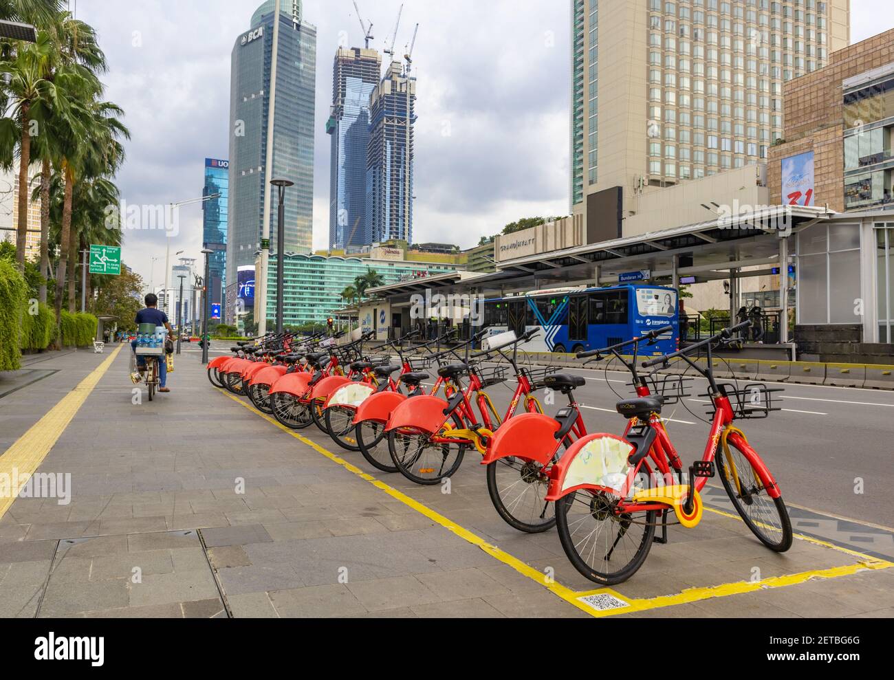
[{"label": "right one of the two unfinished towers topped by cranes", "polygon": [[392,62],[369,98],[367,222],[374,242],[413,240],[416,78]]}]

